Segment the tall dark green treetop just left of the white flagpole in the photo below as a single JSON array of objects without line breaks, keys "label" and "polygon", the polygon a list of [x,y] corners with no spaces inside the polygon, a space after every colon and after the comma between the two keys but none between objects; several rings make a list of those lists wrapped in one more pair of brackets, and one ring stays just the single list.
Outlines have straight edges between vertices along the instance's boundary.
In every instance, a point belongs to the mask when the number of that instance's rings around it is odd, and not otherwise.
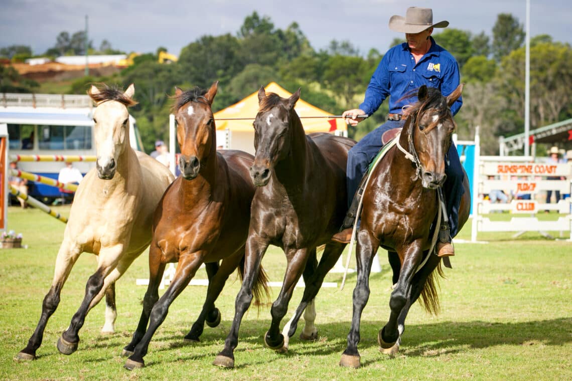
[{"label": "tall dark green treetop just left of the white flagpole", "polygon": [[492,55],[496,61],[518,49],[525,42],[523,26],[510,13],[501,13],[497,16],[492,27]]}]

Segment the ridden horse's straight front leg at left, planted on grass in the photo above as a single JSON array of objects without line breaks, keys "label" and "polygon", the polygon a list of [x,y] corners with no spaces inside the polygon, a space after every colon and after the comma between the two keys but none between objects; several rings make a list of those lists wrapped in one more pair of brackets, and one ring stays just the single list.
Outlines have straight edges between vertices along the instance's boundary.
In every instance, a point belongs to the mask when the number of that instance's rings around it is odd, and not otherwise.
[{"label": "ridden horse's straight front leg at left, planted on grass", "polygon": [[359,368],[360,355],[358,343],[360,340],[360,322],[362,312],[370,298],[370,272],[371,264],[374,262],[375,253],[378,251],[379,240],[374,238],[367,230],[358,233],[358,246],[356,247],[356,264],[358,279],[353,288],[353,312],[352,324],[348,333],[348,344],[341,354],[340,365],[344,367]]}]

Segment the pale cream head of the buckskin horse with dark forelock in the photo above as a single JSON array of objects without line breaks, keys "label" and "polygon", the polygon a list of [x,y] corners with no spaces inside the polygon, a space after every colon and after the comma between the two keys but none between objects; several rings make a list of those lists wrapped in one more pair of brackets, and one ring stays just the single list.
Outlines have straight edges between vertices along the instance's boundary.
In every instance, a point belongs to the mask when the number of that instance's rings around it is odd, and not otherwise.
[{"label": "pale cream head of the buckskin horse with dark forelock", "polygon": [[88,95],[96,102],[93,111],[96,138],[97,175],[110,180],[117,170],[117,161],[129,144],[129,106],[137,105],[133,94],[135,86],[129,85],[125,93],[104,84],[92,85]]}]

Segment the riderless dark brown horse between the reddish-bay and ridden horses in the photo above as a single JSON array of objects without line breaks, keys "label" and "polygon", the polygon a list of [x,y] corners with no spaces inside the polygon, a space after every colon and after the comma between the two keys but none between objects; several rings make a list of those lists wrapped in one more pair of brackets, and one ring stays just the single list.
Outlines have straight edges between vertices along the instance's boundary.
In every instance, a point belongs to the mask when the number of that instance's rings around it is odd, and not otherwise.
[{"label": "riderless dark brown horse between the reddish-bay and ridden horses", "polygon": [[[306,135],[294,110],[300,90],[290,98],[258,93],[260,110],[254,122],[255,162],[252,181],[257,186],[252,215],[244,280],[236,296],[235,318],[224,350],[213,364],[234,366],[240,322],[252,300],[253,280],[269,244],[284,250],[287,268],[280,295],[272,304],[272,323],[264,336],[268,347],[285,351],[304,312],[302,339],[315,339],[315,298],[324,276],[336,263],[345,244],[331,241],[340,227],[347,207],[345,165],[355,141],[331,134]],[[325,244],[320,263],[316,247]],[[296,282],[303,276],[305,289],[293,318],[280,332]]]}]

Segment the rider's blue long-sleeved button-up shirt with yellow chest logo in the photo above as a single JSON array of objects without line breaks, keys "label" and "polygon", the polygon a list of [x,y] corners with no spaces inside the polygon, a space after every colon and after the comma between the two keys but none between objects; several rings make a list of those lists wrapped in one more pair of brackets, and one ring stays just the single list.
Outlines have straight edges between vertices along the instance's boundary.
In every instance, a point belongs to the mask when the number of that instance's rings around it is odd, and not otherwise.
[{"label": "rider's blue long-sleeved button-up shirt with yellow chest logo", "polygon": [[[399,101],[409,91],[427,85],[447,96],[459,86],[459,65],[455,58],[430,38],[431,48],[418,63],[415,63],[407,42],[387,51],[371,77],[360,110],[371,115],[390,96],[390,113],[403,114],[403,106],[417,102],[417,97]],[[462,104],[463,99],[459,97],[451,105],[451,113],[455,115]]]}]

